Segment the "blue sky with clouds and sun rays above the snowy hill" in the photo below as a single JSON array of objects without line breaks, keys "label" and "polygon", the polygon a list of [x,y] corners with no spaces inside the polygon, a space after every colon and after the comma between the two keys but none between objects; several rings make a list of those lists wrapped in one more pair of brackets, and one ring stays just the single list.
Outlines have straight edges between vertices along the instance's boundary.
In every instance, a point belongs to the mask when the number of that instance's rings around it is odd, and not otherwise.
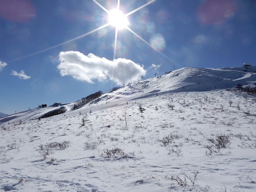
[{"label": "blue sky with clouds and sun rays above the snowy hill", "polygon": [[[116,30],[118,5],[129,24]],[[1,0],[0,112],[75,102],[173,68],[255,65],[255,45],[254,0]]]}]

